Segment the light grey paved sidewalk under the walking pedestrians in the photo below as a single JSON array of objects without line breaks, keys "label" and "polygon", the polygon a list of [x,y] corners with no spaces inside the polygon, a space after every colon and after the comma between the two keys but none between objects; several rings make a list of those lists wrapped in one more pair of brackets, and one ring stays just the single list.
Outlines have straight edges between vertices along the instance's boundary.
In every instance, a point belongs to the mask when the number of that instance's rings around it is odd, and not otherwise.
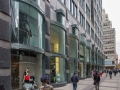
[{"label": "light grey paved sidewalk under the walking pedestrians", "polygon": [[[93,78],[87,78],[78,82],[77,90],[95,90],[94,87]],[[70,83],[64,87],[55,88],[54,90],[73,90],[73,86],[72,83]],[[106,77],[106,75],[103,74],[99,90],[120,90],[120,74],[116,76],[113,75],[112,79],[109,78],[109,75]]]}]

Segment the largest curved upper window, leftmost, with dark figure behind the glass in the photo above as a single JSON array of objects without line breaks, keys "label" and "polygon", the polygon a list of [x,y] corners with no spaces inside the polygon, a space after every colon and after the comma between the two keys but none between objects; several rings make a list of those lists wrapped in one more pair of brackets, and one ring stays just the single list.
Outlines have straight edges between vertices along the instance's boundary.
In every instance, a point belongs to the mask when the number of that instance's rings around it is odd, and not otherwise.
[{"label": "largest curved upper window, leftmost, with dark figure behind the glass", "polygon": [[12,6],[11,42],[42,48],[43,18],[39,11],[18,1],[12,1]]}]

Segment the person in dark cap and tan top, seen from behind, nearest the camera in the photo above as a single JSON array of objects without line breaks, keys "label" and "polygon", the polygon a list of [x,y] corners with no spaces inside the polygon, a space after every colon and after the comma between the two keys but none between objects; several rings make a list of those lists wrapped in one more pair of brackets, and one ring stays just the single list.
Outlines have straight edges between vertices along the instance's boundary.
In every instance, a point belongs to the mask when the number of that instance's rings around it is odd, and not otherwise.
[{"label": "person in dark cap and tan top, seen from behind, nearest the camera", "polygon": [[42,85],[39,87],[39,90],[54,90],[53,86],[48,84],[48,77],[42,76],[41,77]]}]

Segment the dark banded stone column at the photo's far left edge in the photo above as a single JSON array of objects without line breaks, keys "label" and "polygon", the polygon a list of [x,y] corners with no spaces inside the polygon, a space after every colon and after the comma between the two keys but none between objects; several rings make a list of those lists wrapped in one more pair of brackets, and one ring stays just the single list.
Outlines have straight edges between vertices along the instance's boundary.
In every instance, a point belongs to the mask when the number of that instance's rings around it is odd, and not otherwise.
[{"label": "dark banded stone column at the photo's far left edge", "polygon": [[[0,88],[11,90],[10,0],[0,1]],[[0,89],[1,90],[1,89]]]}]

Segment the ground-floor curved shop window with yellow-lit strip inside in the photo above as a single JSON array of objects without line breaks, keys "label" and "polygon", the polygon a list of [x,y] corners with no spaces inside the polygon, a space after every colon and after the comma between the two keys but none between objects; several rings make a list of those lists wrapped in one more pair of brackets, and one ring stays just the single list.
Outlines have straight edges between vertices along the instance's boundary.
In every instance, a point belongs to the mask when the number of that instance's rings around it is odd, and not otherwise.
[{"label": "ground-floor curved shop window with yellow-lit strip inside", "polygon": [[63,83],[65,79],[65,59],[60,57],[51,57],[50,60],[51,83]]}]

